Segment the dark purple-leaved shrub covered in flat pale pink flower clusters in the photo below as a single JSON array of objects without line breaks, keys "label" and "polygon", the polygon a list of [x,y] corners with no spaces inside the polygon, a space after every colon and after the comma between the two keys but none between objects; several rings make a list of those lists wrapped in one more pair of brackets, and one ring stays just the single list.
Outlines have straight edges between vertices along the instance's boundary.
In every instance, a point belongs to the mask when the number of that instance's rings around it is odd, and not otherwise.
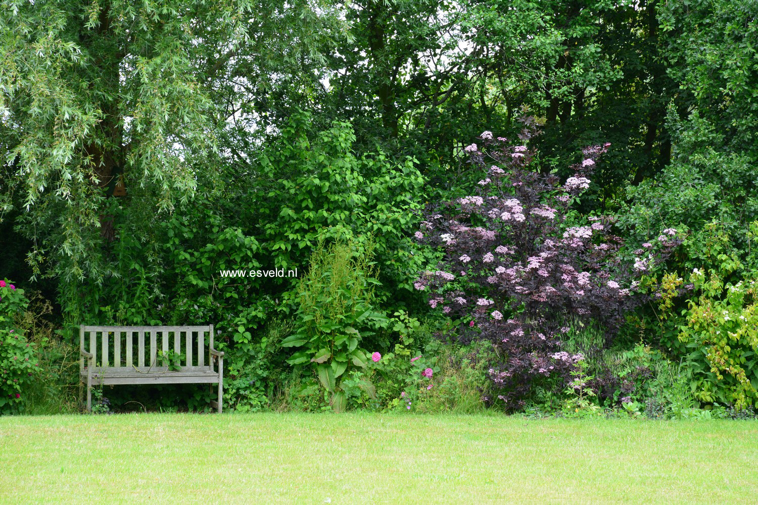
[{"label": "dark purple-leaved shrub covered in flat pale pink flower clusters", "polygon": [[[519,138],[526,144],[536,129],[532,118],[524,121]],[[424,211],[416,238],[439,248],[443,260],[421,273],[415,288],[429,292],[431,307],[462,321],[458,338],[493,343],[501,360],[490,379],[497,399],[514,409],[537,383],[565,384],[582,358],[561,351],[568,323],[596,320],[609,341],[625,313],[646,300],[634,291],[636,279],[681,241],[665,230],[629,263],[617,254],[622,239],[612,234],[611,217],[572,226],[578,223],[570,223],[570,207],[609,144],[585,148],[562,184],[531,170],[536,153],[526,145],[511,146],[491,132],[478,139],[481,145],[465,148],[484,174],[475,195]]]}]

